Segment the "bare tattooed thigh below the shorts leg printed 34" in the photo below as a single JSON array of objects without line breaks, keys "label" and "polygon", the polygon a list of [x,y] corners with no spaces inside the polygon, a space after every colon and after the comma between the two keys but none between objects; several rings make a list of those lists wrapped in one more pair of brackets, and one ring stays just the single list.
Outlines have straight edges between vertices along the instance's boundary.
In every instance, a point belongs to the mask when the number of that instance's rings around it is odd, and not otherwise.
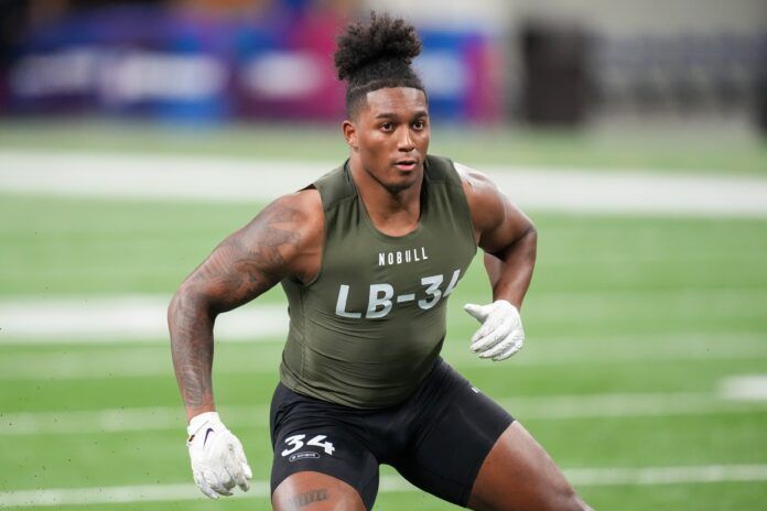
[{"label": "bare tattooed thigh below the shorts leg printed 34", "polygon": [[272,493],[276,511],[366,511],[357,490],[321,472],[298,472],[283,480]]}]

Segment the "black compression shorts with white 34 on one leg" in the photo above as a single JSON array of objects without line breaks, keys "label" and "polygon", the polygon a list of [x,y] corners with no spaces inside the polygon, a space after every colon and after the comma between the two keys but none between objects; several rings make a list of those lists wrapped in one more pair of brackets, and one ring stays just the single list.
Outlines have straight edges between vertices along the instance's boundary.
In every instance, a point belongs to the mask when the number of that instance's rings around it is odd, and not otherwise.
[{"label": "black compression shorts with white 34 on one leg", "polygon": [[403,403],[358,410],[295,393],[280,383],[270,426],[271,491],[311,470],[355,488],[367,509],[378,493],[378,466],[465,507],[479,468],[514,418],[439,359]]}]

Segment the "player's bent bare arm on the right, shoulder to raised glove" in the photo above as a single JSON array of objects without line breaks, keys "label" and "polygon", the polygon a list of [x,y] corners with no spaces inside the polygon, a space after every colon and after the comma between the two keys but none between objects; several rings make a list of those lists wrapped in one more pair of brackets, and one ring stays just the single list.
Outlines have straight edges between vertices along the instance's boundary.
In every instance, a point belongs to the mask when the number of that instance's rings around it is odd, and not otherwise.
[{"label": "player's bent bare arm on the right, shoulder to raised glove", "polygon": [[506,300],[519,309],[536,264],[536,227],[487,176],[463,165],[456,168],[463,180],[477,242],[485,251],[493,300]]}]

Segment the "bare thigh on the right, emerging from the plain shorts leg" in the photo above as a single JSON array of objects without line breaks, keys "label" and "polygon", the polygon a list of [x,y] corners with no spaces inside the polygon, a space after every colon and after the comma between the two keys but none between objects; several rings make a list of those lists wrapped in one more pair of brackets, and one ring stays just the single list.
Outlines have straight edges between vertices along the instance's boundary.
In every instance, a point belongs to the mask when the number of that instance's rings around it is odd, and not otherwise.
[{"label": "bare thigh on the right, emerging from the plain shorts leg", "polygon": [[478,511],[591,509],[519,422],[500,435],[485,458],[468,507]]}]

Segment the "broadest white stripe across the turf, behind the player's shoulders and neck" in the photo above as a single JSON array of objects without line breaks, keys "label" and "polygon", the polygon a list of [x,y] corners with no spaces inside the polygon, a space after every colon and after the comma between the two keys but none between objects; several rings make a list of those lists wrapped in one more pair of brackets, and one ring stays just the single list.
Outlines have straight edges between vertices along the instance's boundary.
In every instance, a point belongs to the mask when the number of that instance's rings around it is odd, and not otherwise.
[{"label": "broadest white stripe across the turf, behind the player's shoulders and neck", "polygon": [[[471,162],[467,162],[471,163]],[[264,162],[159,154],[0,150],[0,192],[176,200],[267,200],[338,162]],[[685,216],[767,216],[767,180],[579,168],[483,168],[526,209]]]}]

